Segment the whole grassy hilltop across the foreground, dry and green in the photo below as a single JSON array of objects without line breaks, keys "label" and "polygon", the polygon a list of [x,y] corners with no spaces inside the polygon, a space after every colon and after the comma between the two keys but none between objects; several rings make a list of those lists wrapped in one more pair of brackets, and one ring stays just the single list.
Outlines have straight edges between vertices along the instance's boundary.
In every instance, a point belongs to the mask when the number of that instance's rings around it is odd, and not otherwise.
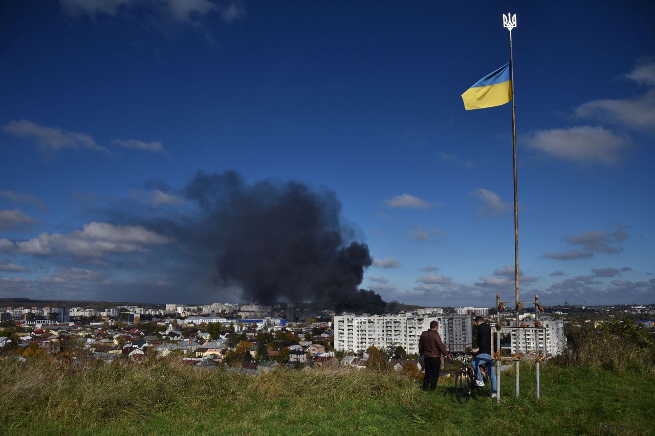
[{"label": "whole grassy hilltop across the foreground, dry and green", "polygon": [[276,371],[241,376],[179,361],[73,368],[51,357],[0,360],[0,432],[29,435],[653,434],[655,380],[637,372],[542,365],[502,374],[502,402],[457,403],[395,373]]}]

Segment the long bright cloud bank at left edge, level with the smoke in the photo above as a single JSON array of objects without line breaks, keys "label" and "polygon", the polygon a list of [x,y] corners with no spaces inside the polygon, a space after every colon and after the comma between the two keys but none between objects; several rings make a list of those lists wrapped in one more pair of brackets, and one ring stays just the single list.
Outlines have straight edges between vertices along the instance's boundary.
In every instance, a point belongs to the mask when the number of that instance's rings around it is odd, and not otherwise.
[{"label": "long bright cloud bank at left edge, level with the smoke", "polygon": [[36,238],[11,242],[0,239],[0,251],[35,256],[73,255],[103,257],[109,253],[147,251],[148,245],[166,244],[168,238],[140,226],[90,223],[69,234],[43,232]]}]

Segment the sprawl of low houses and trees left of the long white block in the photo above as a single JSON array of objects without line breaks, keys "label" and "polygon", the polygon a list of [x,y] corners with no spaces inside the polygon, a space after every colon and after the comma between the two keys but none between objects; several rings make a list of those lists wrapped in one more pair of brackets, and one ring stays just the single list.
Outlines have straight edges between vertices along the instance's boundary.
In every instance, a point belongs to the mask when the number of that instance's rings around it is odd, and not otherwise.
[{"label": "sprawl of low houses and trees left of the long white block", "polygon": [[[112,323],[113,324],[113,323]],[[13,338],[0,337],[5,354],[63,354],[71,359],[140,361],[147,358],[181,359],[193,369],[223,368],[242,374],[259,374],[278,368],[310,371],[343,365],[369,366],[369,352],[345,355],[331,347],[333,331],[327,323],[272,329],[222,329],[221,325],[180,327],[168,319],[159,323],[102,326],[52,325],[33,328],[16,325]],[[255,327],[255,326],[251,326]],[[153,331],[154,330],[154,331]],[[210,333],[210,331],[212,333]],[[400,357],[400,356],[395,356]],[[415,359],[386,358],[389,369],[421,371]]]}]

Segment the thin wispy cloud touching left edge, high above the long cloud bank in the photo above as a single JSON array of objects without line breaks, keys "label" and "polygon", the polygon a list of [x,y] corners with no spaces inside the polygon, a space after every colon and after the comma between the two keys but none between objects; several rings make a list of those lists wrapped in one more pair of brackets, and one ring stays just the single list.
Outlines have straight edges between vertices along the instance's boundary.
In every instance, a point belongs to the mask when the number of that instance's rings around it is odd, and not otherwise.
[{"label": "thin wispy cloud touching left edge, high above the long cloud bank", "polygon": [[39,126],[28,120],[12,120],[3,126],[3,130],[12,136],[33,139],[43,153],[84,148],[111,154],[105,147],[98,145],[93,137],[83,132],[67,132],[59,127]]}]

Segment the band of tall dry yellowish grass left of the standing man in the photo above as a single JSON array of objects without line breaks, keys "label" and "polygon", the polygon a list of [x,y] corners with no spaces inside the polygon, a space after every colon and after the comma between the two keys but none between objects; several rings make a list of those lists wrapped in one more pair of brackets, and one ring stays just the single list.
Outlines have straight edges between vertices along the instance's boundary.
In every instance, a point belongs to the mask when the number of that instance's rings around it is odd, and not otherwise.
[{"label": "band of tall dry yellowish grass left of the standing man", "polygon": [[24,363],[13,357],[0,359],[0,386],[0,422],[5,424],[33,414],[90,423],[117,417],[139,419],[175,409],[177,403],[209,410],[226,401],[280,397],[314,403],[377,399],[409,407],[419,392],[416,382],[394,371],[280,369],[250,376],[193,369],[177,359],[71,364],[52,355]]}]

